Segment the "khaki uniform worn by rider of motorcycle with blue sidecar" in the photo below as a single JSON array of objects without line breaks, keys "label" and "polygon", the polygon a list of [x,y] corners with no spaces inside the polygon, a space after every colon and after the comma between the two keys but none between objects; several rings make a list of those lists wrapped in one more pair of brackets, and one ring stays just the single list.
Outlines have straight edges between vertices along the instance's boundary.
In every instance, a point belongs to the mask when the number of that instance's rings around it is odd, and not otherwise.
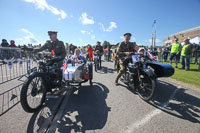
[{"label": "khaki uniform worn by rider of motorcycle with blue sidecar", "polygon": [[118,79],[124,74],[125,72],[125,66],[123,64],[124,60],[123,57],[126,56],[125,52],[136,52],[135,50],[136,47],[136,43],[135,42],[129,42],[129,43],[125,43],[125,42],[121,42],[117,48],[117,58],[119,59],[119,65],[120,65],[120,70],[119,73],[117,75],[116,81],[118,81]]}]

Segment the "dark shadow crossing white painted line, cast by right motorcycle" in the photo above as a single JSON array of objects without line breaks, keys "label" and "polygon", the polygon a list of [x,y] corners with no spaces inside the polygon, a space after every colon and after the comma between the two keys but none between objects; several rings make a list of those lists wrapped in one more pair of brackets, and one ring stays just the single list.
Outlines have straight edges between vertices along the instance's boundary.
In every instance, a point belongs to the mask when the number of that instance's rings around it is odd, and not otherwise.
[{"label": "dark shadow crossing white painted line, cast by right motorcycle", "polygon": [[175,90],[177,90],[175,97],[169,101],[167,107],[161,108],[161,110],[174,117],[192,123],[200,123],[200,99],[195,96],[195,93],[198,93],[197,95],[200,96],[198,91],[177,88],[173,84],[158,81],[156,95],[150,104],[157,108],[161,107],[163,103],[169,100]]}]

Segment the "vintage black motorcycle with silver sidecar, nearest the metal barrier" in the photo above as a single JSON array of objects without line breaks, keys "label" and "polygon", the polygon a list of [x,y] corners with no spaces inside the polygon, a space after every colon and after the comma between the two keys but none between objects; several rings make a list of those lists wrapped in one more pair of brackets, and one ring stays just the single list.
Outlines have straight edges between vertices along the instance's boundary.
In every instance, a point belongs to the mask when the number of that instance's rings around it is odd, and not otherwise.
[{"label": "vintage black motorcycle with silver sidecar, nearest the metal barrier", "polygon": [[[63,61],[64,60],[64,61]],[[90,82],[92,85],[92,63],[85,64],[61,57],[45,55],[43,58],[36,56],[38,64],[33,72],[28,75],[22,86],[20,101],[24,111],[32,113],[43,106],[47,92],[59,91],[64,86]],[[62,63],[63,70],[58,68],[58,62]]]}]

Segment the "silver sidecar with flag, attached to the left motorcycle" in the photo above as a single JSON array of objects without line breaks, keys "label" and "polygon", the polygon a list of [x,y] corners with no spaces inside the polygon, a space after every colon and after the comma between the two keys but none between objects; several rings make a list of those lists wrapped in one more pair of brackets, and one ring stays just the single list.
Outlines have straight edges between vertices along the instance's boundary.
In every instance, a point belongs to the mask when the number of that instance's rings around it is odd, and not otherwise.
[{"label": "silver sidecar with flag, attached to the left motorcycle", "polygon": [[88,63],[66,63],[63,70],[63,80],[68,84],[81,84],[88,82],[92,86],[93,67],[92,62]]}]

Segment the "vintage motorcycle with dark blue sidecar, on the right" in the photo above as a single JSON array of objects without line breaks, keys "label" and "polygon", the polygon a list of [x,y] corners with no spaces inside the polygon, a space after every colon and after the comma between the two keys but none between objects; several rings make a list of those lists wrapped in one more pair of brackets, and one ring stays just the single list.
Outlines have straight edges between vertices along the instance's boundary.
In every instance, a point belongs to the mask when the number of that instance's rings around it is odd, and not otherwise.
[{"label": "vintage motorcycle with dark blue sidecar, on the right", "polygon": [[[131,53],[124,57],[125,73],[120,80],[135,90],[141,99],[149,101],[156,91],[156,79],[174,74],[171,65],[153,62],[145,53]],[[117,65],[119,71],[119,64]]]}]

